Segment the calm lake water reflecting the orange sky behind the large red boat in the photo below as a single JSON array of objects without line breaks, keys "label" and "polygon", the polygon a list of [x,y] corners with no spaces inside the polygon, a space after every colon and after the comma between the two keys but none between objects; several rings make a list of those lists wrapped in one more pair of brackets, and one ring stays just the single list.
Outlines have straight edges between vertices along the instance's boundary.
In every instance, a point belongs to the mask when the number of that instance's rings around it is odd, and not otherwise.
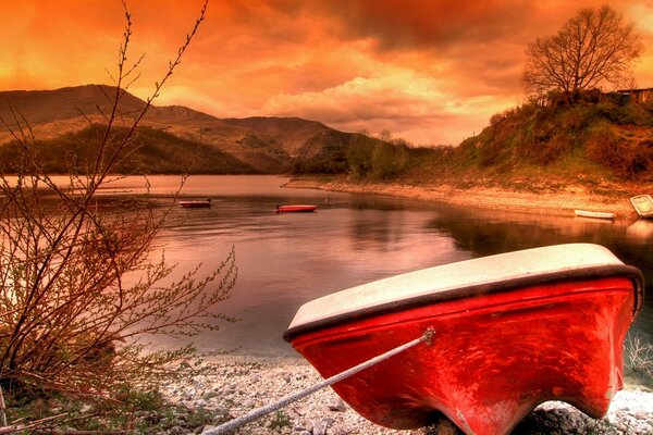
[{"label": "calm lake water reflecting the orange sky behind the large red boat", "polygon": [[[167,197],[178,177],[150,177]],[[398,273],[493,253],[564,243],[594,243],[642,270],[646,301],[633,332],[653,341],[653,222],[475,210],[370,195],[287,189],[278,176],[193,176],[184,199],[212,198],[210,209],[174,209],[158,243],[180,271],[215,268],[235,247],[238,278],[218,312],[239,318],[196,337],[200,350],[296,356],[282,334],[300,304]],[[130,177],[111,191],[143,191]],[[316,203],[315,213],[276,214],[275,204]],[[157,338],[157,346],[178,345]]]}]

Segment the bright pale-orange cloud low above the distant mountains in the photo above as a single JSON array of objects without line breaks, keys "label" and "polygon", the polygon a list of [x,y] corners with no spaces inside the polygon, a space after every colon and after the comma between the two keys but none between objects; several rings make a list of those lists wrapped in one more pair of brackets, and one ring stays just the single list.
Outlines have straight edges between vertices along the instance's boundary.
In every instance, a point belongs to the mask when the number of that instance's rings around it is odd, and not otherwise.
[{"label": "bright pale-orange cloud low above the distant mountains", "polygon": [[[320,92],[280,94],[261,112],[320,120],[338,129],[390,130],[416,145],[458,144],[471,133],[458,128],[478,123],[469,113],[488,116],[506,101],[482,97],[467,101],[443,92],[436,79],[390,69],[384,74],[356,77]],[[473,108],[473,105],[478,105]],[[491,114],[491,113],[490,113]],[[485,120],[488,119],[485,117]],[[480,130],[477,125],[477,132]]]}]

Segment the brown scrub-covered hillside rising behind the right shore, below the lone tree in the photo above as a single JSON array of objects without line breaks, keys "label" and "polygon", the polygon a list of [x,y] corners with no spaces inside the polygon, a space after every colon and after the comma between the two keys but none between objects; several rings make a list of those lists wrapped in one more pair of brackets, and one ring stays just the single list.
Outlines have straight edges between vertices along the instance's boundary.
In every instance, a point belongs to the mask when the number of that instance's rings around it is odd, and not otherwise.
[{"label": "brown scrub-covered hillside rising behind the right shore, below the lone tree", "polygon": [[414,149],[406,183],[537,188],[653,181],[653,108],[611,101],[527,103],[496,114],[458,147]]}]

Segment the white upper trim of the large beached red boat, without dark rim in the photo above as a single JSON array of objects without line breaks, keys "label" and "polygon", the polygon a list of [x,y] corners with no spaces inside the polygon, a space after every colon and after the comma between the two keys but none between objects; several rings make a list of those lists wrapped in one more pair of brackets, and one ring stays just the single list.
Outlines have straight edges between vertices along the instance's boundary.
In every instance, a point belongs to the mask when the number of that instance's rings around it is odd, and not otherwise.
[{"label": "white upper trim of the large beached red boat, without dark rim", "polygon": [[[608,249],[591,244],[556,245],[444,264],[337,291],[305,303],[288,331],[375,307],[420,297],[446,299],[456,290],[583,270],[628,268]],[[451,296],[454,297],[454,296]]]}]

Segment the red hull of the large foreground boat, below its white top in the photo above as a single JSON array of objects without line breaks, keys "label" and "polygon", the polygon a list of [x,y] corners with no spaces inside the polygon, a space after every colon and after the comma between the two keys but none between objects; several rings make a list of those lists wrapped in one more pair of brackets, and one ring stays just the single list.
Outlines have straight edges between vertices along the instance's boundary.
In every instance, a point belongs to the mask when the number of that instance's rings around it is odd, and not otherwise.
[{"label": "red hull of the large foreground boat, below its white top", "polygon": [[366,419],[415,428],[442,414],[467,434],[507,434],[546,400],[605,414],[623,386],[633,319],[628,277],[531,285],[433,302],[291,337],[322,376],[435,331],[420,344],[333,386]]}]

